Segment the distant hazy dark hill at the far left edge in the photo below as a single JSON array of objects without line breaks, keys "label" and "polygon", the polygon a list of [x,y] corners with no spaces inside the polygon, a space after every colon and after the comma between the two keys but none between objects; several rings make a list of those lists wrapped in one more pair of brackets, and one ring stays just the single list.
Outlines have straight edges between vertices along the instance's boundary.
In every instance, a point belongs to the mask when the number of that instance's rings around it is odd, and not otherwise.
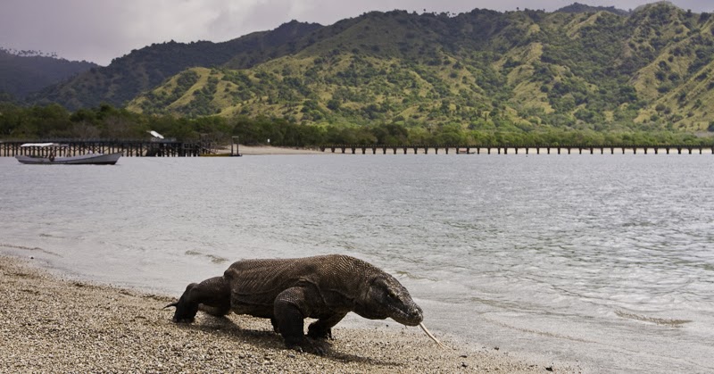
[{"label": "distant hazy dark hill at the far left edge", "polygon": [[67,61],[37,51],[10,51],[0,48],[0,95],[17,99],[40,88],[58,83],[98,65]]}]

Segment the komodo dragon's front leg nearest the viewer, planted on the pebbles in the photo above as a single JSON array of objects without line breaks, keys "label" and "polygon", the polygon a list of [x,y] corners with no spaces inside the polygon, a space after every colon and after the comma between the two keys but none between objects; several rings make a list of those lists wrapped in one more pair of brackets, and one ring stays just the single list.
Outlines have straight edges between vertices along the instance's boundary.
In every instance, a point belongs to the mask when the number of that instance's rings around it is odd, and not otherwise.
[{"label": "komodo dragon's front leg nearest the viewer, planted on the pebbles", "polygon": [[311,342],[303,333],[304,319],[311,314],[308,300],[315,300],[317,296],[312,294],[314,292],[304,287],[287,288],[281,292],[273,304],[274,326],[285,339],[287,348],[322,355],[326,353],[325,347]]}]

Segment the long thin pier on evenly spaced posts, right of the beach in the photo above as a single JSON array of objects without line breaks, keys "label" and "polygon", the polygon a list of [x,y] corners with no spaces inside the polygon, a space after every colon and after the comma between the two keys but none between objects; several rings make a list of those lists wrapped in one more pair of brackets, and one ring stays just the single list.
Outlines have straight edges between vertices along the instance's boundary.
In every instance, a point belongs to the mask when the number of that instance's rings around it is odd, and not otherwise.
[{"label": "long thin pier on evenly spaced posts, right of the beach", "polygon": [[322,145],[333,154],[714,154],[714,145]]}]

